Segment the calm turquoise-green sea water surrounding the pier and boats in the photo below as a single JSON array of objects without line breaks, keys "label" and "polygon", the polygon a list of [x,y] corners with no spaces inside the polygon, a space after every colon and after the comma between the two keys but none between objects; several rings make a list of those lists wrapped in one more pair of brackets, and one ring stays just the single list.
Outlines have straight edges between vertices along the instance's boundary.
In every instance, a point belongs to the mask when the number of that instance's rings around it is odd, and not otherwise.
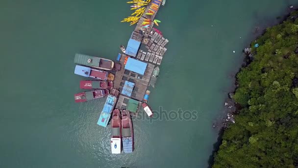
[{"label": "calm turquoise-green sea water surrounding the pier and boats", "polygon": [[[295,0],[167,0],[157,15],[170,42],[149,105],[198,119],[134,121],[135,151],[110,153],[96,123],[104,99],[74,103],[75,53],[116,59],[134,27],[125,0],[2,0],[1,168],[205,168],[241,50],[256,26]],[[235,53],[233,53],[235,51]]]}]

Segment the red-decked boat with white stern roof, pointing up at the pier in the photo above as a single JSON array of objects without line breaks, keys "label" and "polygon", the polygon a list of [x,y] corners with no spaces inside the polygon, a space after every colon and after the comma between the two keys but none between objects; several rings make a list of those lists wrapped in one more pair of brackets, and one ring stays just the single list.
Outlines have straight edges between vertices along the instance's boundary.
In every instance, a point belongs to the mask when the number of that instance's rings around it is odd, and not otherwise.
[{"label": "red-decked boat with white stern roof, pointing up at the pier", "polygon": [[115,109],[112,114],[112,136],[111,136],[111,151],[113,154],[121,153],[121,117],[120,110]]}]

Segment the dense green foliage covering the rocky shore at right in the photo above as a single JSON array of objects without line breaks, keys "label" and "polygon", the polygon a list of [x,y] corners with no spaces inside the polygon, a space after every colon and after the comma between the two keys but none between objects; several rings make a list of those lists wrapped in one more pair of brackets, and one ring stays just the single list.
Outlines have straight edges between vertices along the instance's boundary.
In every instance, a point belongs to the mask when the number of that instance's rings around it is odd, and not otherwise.
[{"label": "dense green foliage covering the rocky shore at right", "polygon": [[[254,60],[237,75],[242,107],[224,131],[213,168],[298,166],[298,12],[254,41]],[[295,53],[296,51],[296,53]]]}]

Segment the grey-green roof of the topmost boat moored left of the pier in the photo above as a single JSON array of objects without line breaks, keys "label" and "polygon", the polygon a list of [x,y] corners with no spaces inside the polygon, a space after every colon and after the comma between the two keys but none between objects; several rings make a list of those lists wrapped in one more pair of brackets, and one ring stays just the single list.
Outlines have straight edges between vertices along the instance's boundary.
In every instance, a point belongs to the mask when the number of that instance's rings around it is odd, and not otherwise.
[{"label": "grey-green roof of the topmost boat moored left of the pier", "polygon": [[83,54],[75,54],[75,63],[87,66],[99,66],[100,58],[96,56],[87,56]]}]

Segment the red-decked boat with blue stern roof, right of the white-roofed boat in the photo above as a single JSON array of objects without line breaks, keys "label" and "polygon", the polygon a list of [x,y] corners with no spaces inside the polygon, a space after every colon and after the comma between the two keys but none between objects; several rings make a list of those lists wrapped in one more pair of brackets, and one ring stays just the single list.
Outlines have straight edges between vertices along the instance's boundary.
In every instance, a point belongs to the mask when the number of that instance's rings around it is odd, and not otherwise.
[{"label": "red-decked boat with blue stern roof, right of the white-roofed boat", "polygon": [[133,151],[133,127],[129,111],[122,111],[122,144],[124,153]]}]

